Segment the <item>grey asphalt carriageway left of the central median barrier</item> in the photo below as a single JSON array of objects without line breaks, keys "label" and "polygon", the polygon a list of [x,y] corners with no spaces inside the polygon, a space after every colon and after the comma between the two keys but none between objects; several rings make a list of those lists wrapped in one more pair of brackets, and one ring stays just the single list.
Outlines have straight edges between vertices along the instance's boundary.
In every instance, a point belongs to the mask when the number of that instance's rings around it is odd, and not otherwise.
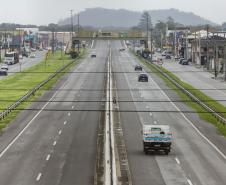
[{"label": "grey asphalt carriageway left of the central median barrier", "polygon": [[[100,90],[104,88],[105,74],[89,72],[105,71],[108,44],[104,41],[98,42],[93,48],[97,58],[88,56],[73,69],[74,72],[87,73],[72,73],[64,77],[58,84],[61,91],[55,94],[49,93],[52,98],[44,95],[41,99],[101,100],[103,91]],[[93,184],[100,112],[73,110],[101,109],[102,104],[55,102],[32,106],[68,111],[38,113],[23,111],[18,116],[1,136],[1,150],[7,146],[6,140],[10,141],[11,134],[15,132],[14,130],[18,130],[20,124],[23,125],[22,128],[26,124],[28,126],[0,155],[0,184]]]}]

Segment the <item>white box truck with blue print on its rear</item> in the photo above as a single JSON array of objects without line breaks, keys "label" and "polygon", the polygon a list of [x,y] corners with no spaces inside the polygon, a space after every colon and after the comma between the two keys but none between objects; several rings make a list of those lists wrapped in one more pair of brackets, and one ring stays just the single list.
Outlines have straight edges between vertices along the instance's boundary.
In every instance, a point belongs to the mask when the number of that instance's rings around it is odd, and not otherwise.
[{"label": "white box truck with blue print on its rear", "polygon": [[172,145],[172,133],[169,125],[143,125],[143,150],[148,152],[170,153]]}]

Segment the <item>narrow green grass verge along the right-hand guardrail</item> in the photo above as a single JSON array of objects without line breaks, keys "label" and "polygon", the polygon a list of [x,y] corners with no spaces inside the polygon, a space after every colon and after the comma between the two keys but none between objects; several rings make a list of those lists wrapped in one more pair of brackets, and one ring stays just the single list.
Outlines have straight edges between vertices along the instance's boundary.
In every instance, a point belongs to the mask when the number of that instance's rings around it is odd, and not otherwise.
[{"label": "narrow green grass verge along the right-hand guardrail", "polygon": [[[218,121],[218,119],[216,119],[211,113],[205,113],[206,110],[200,106],[199,104],[197,104],[196,102],[192,102],[192,99],[184,94],[181,90],[179,90],[170,80],[168,80],[165,76],[163,76],[161,73],[158,72],[158,70],[155,69],[154,64],[151,63],[147,63],[147,61],[145,59],[143,59],[140,56],[136,56],[144,65],[146,65],[151,72],[157,74],[162,80],[164,80],[164,82],[166,83],[166,85],[171,88],[174,89],[175,92],[179,95],[179,97],[181,98],[181,100],[186,101],[186,104],[191,107],[192,109],[194,109],[195,111],[198,112],[199,117],[202,120],[205,120],[213,125],[215,125],[215,127],[218,129],[218,131],[226,137],[226,125],[222,124],[221,122]],[[198,89],[195,89],[193,86],[191,86],[190,84],[187,84],[185,82],[182,82],[176,75],[174,75],[173,73],[171,73],[170,71],[166,70],[163,67],[159,67],[161,68],[161,70],[164,73],[167,73],[171,78],[173,78],[177,83],[179,83],[182,87],[184,87],[185,89],[189,90],[190,93],[192,93],[193,95],[195,95],[197,98],[199,98],[202,101],[206,101],[208,100],[208,102],[205,102],[205,104],[207,104],[209,107],[211,107],[214,111],[216,112],[226,112],[226,107],[223,106],[222,104],[220,104],[219,102],[215,101],[214,99],[210,98],[209,96],[207,96],[206,94],[204,94],[203,92],[201,92]],[[203,112],[203,113],[202,113]],[[222,113],[221,114],[223,117],[226,118],[226,114]]]}]

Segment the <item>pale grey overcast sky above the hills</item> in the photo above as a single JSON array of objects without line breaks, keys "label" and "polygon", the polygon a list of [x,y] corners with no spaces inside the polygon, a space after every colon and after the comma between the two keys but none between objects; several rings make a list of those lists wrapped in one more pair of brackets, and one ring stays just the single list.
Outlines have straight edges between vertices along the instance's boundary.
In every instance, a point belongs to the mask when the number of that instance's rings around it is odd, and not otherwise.
[{"label": "pale grey overcast sky above the hills", "polygon": [[48,24],[86,8],[134,11],[176,8],[193,12],[218,24],[226,22],[226,0],[0,0],[0,23]]}]

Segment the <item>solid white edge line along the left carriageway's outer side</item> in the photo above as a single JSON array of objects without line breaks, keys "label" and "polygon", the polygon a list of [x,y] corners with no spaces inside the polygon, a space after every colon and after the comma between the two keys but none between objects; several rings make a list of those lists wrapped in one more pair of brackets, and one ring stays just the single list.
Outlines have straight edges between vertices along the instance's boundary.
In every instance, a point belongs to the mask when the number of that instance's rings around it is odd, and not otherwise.
[{"label": "solid white edge line along the left carriageway's outer side", "polygon": [[28,122],[28,124],[21,130],[21,132],[8,144],[8,146],[0,153],[0,158],[7,152],[7,150],[17,141],[17,139],[27,130],[27,128],[33,123],[33,121],[39,116],[39,114],[46,108],[46,106],[53,100],[53,98],[58,93],[55,92],[53,96],[49,99],[49,101],[41,108],[40,111],[31,119],[31,121]]}]

